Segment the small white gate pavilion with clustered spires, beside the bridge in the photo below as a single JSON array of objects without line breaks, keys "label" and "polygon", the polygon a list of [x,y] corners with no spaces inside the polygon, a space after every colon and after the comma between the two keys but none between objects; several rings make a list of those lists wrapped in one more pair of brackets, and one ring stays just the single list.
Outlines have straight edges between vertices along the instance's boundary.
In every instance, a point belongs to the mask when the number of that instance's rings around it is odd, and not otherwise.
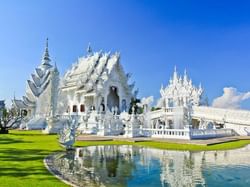
[{"label": "small white gate pavilion with clustered spires, beside the bridge", "polygon": [[192,106],[201,104],[203,89],[192,84],[185,70],[184,76],[179,76],[175,67],[173,78],[170,78],[169,85],[160,89],[161,99],[158,107],[173,110],[173,119],[168,122],[173,129],[183,129],[192,126]]}]

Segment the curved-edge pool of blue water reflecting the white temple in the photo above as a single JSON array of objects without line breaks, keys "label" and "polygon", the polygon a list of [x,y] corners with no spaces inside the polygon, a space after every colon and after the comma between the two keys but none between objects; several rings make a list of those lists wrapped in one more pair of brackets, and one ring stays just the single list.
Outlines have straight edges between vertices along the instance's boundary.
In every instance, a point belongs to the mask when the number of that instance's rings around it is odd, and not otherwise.
[{"label": "curved-edge pool of blue water reflecting the white temple", "polygon": [[77,148],[47,159],[77,186],[250,186],[250,145],[228,151],[170,151],[131,145]]}]

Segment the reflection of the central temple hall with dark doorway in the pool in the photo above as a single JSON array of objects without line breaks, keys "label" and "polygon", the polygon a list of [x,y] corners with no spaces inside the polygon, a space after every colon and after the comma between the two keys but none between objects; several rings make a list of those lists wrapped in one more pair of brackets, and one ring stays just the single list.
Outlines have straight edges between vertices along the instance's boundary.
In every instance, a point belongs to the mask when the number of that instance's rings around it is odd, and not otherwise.
[{"label": "reflection of the central temple hall with dark doorway in the pool", "polygon": [[112,185],[119,181],[119,186],[126,186],[135,166],[132,153],[136,153],[131,147],[122,150],[118,146],[78,148],[75,160],[80,167],[92,171],[98,185]]}]

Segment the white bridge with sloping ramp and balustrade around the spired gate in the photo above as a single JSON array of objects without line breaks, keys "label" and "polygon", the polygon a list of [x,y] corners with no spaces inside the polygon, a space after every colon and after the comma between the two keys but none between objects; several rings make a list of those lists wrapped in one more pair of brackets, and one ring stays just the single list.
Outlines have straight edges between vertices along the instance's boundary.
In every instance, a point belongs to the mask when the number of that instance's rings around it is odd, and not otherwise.
[{"label": "white bridge with sloping ramp and balustrade around the spired gate", "polygon": [[[250,135],[250,111],[193,106],[192,129],[171,129],[168,124],[173,121],[173,110],[167,108],[150,112],[149,119],[154,125],[147,129],[148,133],[154,137],[181,139]],[[202,129],[201,123],[210,123],[213,128]]]}]

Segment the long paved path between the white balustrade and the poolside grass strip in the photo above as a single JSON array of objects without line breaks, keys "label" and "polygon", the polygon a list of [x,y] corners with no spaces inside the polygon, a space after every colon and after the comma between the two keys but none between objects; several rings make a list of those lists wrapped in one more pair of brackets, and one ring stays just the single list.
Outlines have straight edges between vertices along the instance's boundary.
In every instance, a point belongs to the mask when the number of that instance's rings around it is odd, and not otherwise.
[{"label": "long paved path between the white balustrade and the poolside grass strip", "polygon": [[128,141],[128,142],[168,142],[168,143],[179,143],[179,144],[192,144],[192,145],[215,145],[225,142],[232,142],[238,140],[250,140],[250,136],[231,136],[222,138],[212,138],[205,140],[181,140],[181,139],[167,139],[167,138],[148,138],[148,137],[137,137],[137,138],[125,138],[123,136],[97,136],[97,135],[79,135],[78,141]]}]

